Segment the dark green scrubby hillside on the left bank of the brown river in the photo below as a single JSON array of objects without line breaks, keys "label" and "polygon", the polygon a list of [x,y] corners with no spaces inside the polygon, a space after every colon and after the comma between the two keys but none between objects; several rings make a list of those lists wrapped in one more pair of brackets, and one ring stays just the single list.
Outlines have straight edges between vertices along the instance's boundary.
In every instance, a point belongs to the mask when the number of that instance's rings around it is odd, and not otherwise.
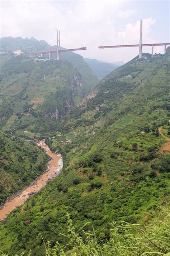
[{"label": "dark green scrubby hillside on the left bank of the brown river", "polygon": [[35,143],[0,133],[0,205],[47,169],[49,157]]}]

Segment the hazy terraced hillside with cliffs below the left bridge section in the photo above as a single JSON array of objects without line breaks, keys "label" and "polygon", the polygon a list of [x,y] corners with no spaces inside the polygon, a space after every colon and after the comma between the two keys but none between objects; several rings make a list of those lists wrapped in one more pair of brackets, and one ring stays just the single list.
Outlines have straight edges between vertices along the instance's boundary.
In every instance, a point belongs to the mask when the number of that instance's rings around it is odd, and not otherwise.
[{"label": "hazy terraced hillside with cliffs below the left bridge section", "polygon": [[50,122],[53,125],[54,120],[80,101],[90,85],[91,76],[83,80],[77,69],[65,60],[38,62],[27,55],[0,58],[0,127],[3,131],[22,130],[23,133],[28,126],[32,131],[33,123],[39,123],[38,118],[48,127]]}]

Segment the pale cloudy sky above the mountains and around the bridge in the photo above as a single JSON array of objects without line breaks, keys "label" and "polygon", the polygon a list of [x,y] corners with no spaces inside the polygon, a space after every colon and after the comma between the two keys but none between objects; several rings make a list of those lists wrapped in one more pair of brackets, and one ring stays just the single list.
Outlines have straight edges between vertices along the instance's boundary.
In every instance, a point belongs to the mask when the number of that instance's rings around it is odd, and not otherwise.
[{"label": "pale cloudy sky above the mountains and around the bridge", "polygon": [[[170,42],[169,1],[1,1],[1,37],[35,37],[55,45],[58,28],[61,46],[86,46],[87,51],[76,53],[108,62],[126,62],[138,54],[138,48],[98,46],[138,44],[140,19],[143,43]],[[154,50],[163,53],[164,47]]]}]

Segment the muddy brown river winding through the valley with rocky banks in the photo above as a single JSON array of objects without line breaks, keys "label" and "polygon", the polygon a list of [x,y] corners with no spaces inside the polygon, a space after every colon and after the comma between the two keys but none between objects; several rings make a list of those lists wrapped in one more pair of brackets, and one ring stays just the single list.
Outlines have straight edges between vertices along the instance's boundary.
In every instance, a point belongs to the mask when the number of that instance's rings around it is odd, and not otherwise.
[{"label": "muddy brown river winding through the valley with rocky banks", "polygon": [[[46,150],[46,153],[52,157],[52,160],[49,161],[48,171],[44,172],[39,179],[36,180],[36,184],[28,185],[18,196],[11,199],[11,201],[6,201],[4,208],[0,210],[0,220],[3,220],[7,217],[9,212],[14,210],[17,206],[22,205],[29,197],[31,193],[37,193],[41,188],[43,188],[48,180],[58,176],[62,170],[62,157],[53,153],[47,145],[45,145],[44,140],[41,140],[37,143],[38,146],[41,146]],[[9,199],[10,200],[10,199]]]}]

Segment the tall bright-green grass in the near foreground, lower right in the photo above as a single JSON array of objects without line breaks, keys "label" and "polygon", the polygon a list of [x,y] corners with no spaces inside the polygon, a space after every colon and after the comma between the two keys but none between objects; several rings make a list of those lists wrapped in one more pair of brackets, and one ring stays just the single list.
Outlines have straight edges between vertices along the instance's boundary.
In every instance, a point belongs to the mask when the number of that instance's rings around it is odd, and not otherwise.
[{"label": "tall bright-green grass in the near foreground, lower right", "polygon": [[[51,243],[44,242],[44,255],[46,256],[145,256],[166,255],[170,256],[170,207],[157,206],[160,213],[150,223],[129,224],[122,222],[121,225],[112,223],[110,239],[107,242],[97,242],[95,231],[85,232],[86,223],[75,232],[70,215],[67,213],[67,235],[69,243],[61,245],[58,242],[51,248]],[[93,227],[93,225],[92,225]],[[82,234],[85,239],[82,239]],[[42,238],[43,239],[43,238]],[[66,251],[68,246],[71,250]],[[8,256],[2,254],[4,256]],[[24,253],[22,255],[25,255]],[[31,256],[31,251],[28,256]],[[17,255],[15,255],[17,256]]]}]

